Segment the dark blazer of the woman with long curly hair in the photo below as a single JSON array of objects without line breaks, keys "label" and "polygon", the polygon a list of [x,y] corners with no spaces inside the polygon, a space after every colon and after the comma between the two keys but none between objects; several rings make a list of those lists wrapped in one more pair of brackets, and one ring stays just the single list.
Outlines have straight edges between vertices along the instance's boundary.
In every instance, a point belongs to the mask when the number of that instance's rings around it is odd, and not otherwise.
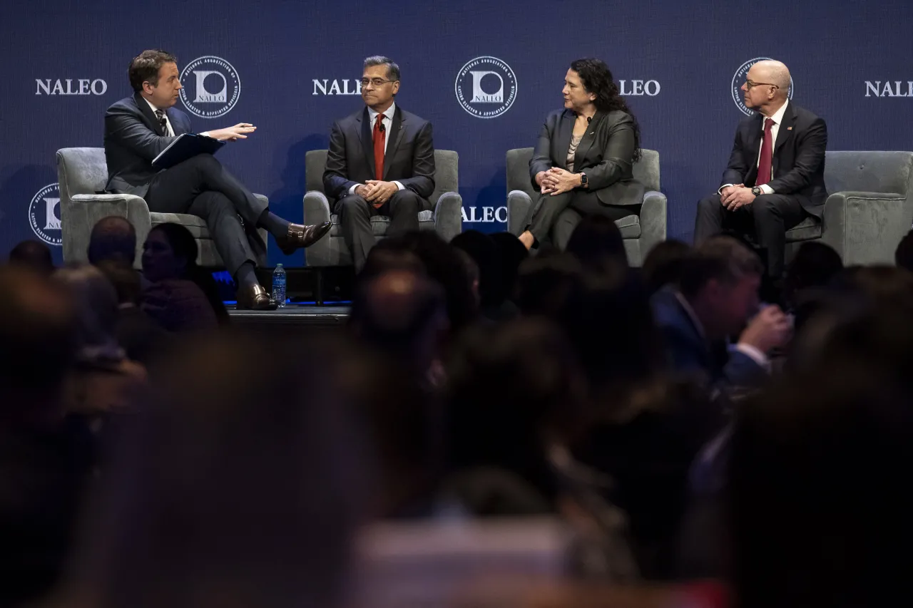
[{"label": "dark blazer of the woman with long curly hair", "polygon": [[[555,110],[545,119],[530,160],[532,187],[536,173],[551,167],[567,169],[571,147],[572,110]],[[604,204],[643,204],[644,184],[634,179],[634,118],[620,110],[596,112],[574,153],[574,173],[586,173],[589,190]]]}]

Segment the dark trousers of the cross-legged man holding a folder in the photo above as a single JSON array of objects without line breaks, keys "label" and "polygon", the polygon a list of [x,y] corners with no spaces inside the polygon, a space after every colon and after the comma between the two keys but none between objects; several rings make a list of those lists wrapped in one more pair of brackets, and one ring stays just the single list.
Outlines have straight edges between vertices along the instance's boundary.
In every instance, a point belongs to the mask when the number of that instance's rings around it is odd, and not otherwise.
[{"label": "dark trousers of the cross-legged man holding a folder", "polygon": [[202,217],[233,276],[245,262],[256,265],[266,258],[267,244],[257,235],[257,221],[267,204],[212,154],[199,154],[156,174],[146,204],[155,213]]}]

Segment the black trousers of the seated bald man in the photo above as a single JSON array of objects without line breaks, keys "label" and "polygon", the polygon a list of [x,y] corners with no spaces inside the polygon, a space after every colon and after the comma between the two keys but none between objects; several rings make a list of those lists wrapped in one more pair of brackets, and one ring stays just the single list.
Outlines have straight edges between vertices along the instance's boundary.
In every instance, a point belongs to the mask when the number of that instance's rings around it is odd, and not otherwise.
[{"label": "black trousers of the seated bald man", "polygon": [[808,215],[797,196],[790,194],[761,194],[751,204],[729,211],[719,194],[708,196],[698,203],[694,225],[694,242],[731,230],[749,236],[766,251],[767,272],[779,280],[785,270],[786,231]]}]

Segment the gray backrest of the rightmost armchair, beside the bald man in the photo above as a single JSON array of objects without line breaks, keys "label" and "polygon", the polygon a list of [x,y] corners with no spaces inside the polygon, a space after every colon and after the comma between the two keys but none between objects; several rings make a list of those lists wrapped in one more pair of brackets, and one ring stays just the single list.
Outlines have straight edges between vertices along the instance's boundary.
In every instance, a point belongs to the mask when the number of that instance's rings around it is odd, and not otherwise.
[{"label": "gray backrest of the rightmost armchair, beside the bald man", "polygon": [[913,152],[839,151],[824,153],[828,194],[875,192],[910,197]]}]

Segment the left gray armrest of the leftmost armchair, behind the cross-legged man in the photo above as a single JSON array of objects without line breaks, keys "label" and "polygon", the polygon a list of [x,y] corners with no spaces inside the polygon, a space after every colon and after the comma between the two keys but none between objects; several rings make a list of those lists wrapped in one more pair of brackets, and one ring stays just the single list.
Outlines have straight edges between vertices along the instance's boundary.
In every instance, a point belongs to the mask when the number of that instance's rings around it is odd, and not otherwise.
[{"label": "left gray armrest of the leftmost armchair, behind the cross-legged man", "polygon": [[[142,244],[149,236],[152,221],[149,206],[133,194],[74,194],[60,200],[60,225],[63,227],[63,259],[65,262],[89,260],[89,236],[92,227],[102,217],[120,215],[136,229],[136,258],[142,257]],[[134,261],[134,266],[138,265]]]}]

